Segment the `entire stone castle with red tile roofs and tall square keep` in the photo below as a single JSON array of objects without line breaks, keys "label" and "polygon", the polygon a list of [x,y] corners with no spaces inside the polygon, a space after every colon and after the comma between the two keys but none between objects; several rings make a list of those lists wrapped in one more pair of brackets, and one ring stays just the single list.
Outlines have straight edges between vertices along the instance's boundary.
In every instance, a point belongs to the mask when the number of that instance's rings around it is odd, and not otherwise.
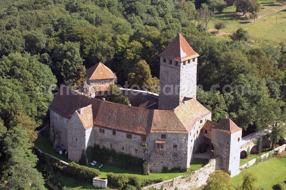
[{"label": "entire stone castle with red tile roofs and tall square keep", "polygon": [[[116,76],[98,63],[86,72],[87,82],[74,91],[61,86],[50,105],[50,140],[78,162],[94,144],[146,160],[149,171],[163,166],[188,169],[201,144],[221,156],[224,171],[239,173],[242,129],[225,117],[211,121],[211,112],[196,100],[198,54],[178,34],[160,56],[158,97],[132,96],[131,105],[108,102],[102,93]],[[145,146],[142,146],[145,145]]]}]

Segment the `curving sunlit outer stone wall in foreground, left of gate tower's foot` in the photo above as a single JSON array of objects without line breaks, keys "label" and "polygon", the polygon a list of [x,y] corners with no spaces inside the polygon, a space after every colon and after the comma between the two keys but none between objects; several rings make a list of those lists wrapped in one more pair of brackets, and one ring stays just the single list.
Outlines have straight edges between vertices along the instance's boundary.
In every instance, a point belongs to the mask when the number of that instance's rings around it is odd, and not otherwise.
[{"label": "curving sunlit outer stone wall in foreground, left of gate tower's foot", "polygon": [[213,173],[216,169],[219,169],[221,167],[220,165],[221,159],[217,157],[215,159],[210,160],[207,165],[188,175],[183,175],[174,179],[163,181],[161,183],[149,185],[142,189],[150,189],[150,187],[160,189],[162,185],[163,189],[168,190],[173,190],[175,187],[178,187],[178,189],[182,190],[197,189],[202,185],[206,184],[209,175]]}]

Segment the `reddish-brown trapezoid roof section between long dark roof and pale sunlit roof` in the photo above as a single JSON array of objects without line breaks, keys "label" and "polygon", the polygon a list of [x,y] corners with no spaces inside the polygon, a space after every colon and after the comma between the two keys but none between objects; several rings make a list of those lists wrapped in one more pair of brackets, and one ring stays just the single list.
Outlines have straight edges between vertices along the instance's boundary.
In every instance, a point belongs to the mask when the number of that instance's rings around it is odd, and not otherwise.
[{"label": "reddish-brown trapezoid roof section between long dark roof and pale sunlit roof", "polygon": [[151,132],[188,133],[172,110],[153,110]]}]

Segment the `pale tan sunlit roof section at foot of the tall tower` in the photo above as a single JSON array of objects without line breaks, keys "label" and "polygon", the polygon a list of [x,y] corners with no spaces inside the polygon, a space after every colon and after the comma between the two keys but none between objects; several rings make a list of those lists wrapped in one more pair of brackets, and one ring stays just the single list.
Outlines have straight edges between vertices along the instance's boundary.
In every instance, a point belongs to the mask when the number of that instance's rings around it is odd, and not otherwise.
[{"label": "pale tan sunlit roof section at foot of the tall tower", "polygon": [[192,130],[197,120],[211,113],[195,99],[184,101],[174,109],[174,112],[188,132]]}]

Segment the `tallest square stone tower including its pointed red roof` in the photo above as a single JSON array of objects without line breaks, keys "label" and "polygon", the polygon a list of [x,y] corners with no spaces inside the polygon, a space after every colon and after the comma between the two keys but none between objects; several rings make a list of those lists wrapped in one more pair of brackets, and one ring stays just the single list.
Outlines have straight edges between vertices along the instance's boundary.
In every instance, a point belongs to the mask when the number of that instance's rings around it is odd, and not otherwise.
[{"label": "tallest square stone tower including its pointed red roof", "polygon": [[196,99],[198,54],[178,33],[160,56],[159,110],[173,110],[184,98]]}]

